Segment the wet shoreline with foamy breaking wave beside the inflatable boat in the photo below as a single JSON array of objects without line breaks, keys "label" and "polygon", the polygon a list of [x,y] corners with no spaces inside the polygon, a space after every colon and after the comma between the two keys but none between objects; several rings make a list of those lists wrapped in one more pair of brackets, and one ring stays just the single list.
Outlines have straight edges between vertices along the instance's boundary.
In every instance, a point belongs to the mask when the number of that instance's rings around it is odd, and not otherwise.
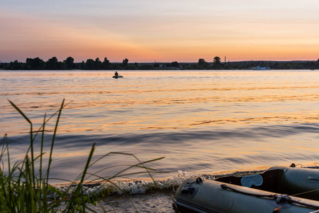
[{"label": "wet shoreline with foamy breaking wave beside the inflatable boat", "polygon": [[[297,165],[301,167],[301,165]],[[235,170],[235,171],[223,171],[220,173],[211,174],[194,174],[179,171],[179,175],[169,178],[168,180],[155,180],[156,187],[152,180],[116,180],[110,182],[87,182],[84,184],[86,193],[90,194],[102,190],[103,188],[114,188],[118,192],[114,192],[111,195],[101,198],[99,202],[101,206],[91,206],[96,212],[172,212],[176,213],[178,210],[173,205],[174,194],[177,188],[189,178],[201,177],[203,180],[215,180],[216,178],[225,176],[247,176],[263,173],[269,168],[282,168],[281,166],[275,167],[259,167],[252,170]],[[284,165],[288,167],[288,165]],[[319,163],[310,163],[303,165],[304,168],[319,169]],[[96,185],[98,184],[98,185]],[[70,187],[69,183],[62,185],[54,185],[60,190],[65,187]],[[75,187],[75,185],[74,185]],[[119,190],[121,189],[121,191]],[[123,191],[122,191],[123,190]]]}]

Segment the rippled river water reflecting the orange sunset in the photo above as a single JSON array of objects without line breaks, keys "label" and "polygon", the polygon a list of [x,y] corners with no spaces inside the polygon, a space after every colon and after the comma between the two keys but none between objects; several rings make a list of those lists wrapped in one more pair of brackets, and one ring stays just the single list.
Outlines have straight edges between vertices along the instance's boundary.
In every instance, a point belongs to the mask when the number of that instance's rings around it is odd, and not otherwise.
[{"label": "rippled river water reflecting the orange sunset", "polygon": [[[8,133],[13,159],[23,156],[17,148],[28,146],[30,127],[7,99],[35,129],[62,99],[68,103],[52,178],[73,180],[93,143],[96,158],[109,152],[132,153],[140,160],[164,156],[147,164],[169,172],[155,173],[155,178],[172,177],[178,170],[216,173],[319,162],[318,71],[123,71],[124,78],[117,80],[113,72],[102,71],[0,75],[0,129],[3,136]],[[46,127],[48,137],[54,121]],[[132,163],[137,163],[133,156],[110,155],[92,170]]]}]

